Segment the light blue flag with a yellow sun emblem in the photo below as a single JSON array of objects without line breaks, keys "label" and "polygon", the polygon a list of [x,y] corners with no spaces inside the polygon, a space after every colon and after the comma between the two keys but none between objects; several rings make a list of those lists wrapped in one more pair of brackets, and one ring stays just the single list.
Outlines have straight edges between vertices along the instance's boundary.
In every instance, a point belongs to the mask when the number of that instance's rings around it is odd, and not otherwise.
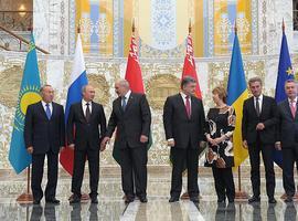
[{"label": "light blue flag with a yellow sun emblem", "polygon": [[14,114],[14,124],[9,150],[9,161],[17,173],[20,173],[32,161],[24,144],[24,118],[26,107],[41,101],[40,96],[40,72],[33,34],[25,59],[23,78],[19,92],[18,106]]}]

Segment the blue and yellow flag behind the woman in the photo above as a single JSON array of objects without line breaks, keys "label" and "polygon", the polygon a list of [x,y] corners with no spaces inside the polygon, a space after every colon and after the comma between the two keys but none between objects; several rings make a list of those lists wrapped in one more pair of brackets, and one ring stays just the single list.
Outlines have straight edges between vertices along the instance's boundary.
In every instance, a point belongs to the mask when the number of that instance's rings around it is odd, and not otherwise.
[{"label": "blue and yellow flag behind the woman", "polygon": [[241,48],[237,32],[235,31],[227,82],[227,105],[233,106],[236,113],[235,130],[233,134],[235,167],[238,167],[248,156],[247,149],[243,148],[242,140],[243,103],[247,98],[248,91],[243,69]]}]

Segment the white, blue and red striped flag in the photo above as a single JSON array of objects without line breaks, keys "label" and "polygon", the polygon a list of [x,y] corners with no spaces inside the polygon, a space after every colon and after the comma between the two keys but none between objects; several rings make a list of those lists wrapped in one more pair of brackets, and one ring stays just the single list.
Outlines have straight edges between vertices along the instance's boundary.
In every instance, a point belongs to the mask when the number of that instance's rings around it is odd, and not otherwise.
[{"label": "white, blue and red striped flag", "polygon": [[[65,122],[67,122],[71,105],[81,102],[81,99],[83,98],[82,87],[86,84],[88,84],[88,80],[86,75],[81,35],[78,33],[74,63],[71,73],[71,83],[68,85],[67,99],[65,106]],[[71,148],[66,147],[60,155],[60,162],[70,175],[73,175],[74,151]]]}]

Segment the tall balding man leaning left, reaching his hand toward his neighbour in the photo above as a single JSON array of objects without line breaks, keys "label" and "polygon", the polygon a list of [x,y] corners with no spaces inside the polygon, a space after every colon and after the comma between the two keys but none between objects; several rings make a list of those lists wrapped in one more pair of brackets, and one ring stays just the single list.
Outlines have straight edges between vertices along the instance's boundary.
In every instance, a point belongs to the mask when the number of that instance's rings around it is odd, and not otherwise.
[{"label": "tall balding man leaning left, reaching his hand toward his neighbour", "polygon": [[[113,102],[106,137],[102,143],[105,149],[117,127],[114,148],[120,150],[123,190],[126,203],[132,202],[135,194],[147,202],[147,145],[151,125],[151,113],[143,94],[130,91],[129,83],[120,80],[115,84],[118,98]],[[136,192],[134,191],[134,177]]]}]

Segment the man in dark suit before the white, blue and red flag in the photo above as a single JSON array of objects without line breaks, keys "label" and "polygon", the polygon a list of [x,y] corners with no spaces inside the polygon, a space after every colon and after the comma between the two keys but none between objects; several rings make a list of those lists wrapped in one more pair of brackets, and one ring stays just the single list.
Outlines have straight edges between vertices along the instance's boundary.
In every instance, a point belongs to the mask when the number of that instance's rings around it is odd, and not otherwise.
[{"label": "man in dark suit before the white, blue and red flag", "polygon": [[102,138],[106,133],[106,116],[103,105],[93,102],[95,90],[92,85],[85,85],[82,88],[82,94],[83,99],[71,106],[67,118],[67,143],[68,147],[74,149],[72,179],[74,194],[70,203],[81,201],[86,158],[89,166],[89,197],[92,203],[98,203],[99,149]]}]

